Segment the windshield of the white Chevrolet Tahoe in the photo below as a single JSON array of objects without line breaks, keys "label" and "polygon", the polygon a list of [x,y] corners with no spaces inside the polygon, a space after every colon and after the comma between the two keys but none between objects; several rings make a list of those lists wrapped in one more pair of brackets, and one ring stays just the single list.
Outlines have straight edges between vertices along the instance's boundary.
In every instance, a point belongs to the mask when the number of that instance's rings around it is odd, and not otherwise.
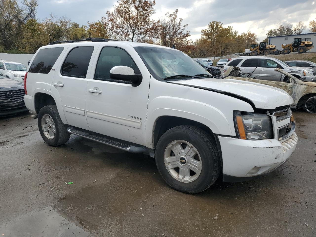
[{"label": "windshield of the white Chevrolet Tahoe", "polygon": [[158,80],[175,75],[209,74],[201,65],[179,50],[143,46],[134,47],[134,49],[142,58],[150,74]]}]

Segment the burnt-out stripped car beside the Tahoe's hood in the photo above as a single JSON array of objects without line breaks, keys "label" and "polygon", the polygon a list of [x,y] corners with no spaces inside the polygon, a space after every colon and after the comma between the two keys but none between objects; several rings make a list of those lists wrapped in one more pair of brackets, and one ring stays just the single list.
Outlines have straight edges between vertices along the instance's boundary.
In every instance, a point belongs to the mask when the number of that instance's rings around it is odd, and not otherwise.
[{"label": "burnt-out stripped car beside the Tahoe's hood", "polygon": [[281,82],[276,82],[254,79],[250,74],[241,73],[238,67],[232,66],[228,68],[228,70],[223,74],[223,78],[233,78],[248,82],[256,82],[283,89],[289,95],[291,95],[294,100],[292,108],[302,108],[306,112],[316,113],[316,83],[301,81],[300,79],[292,76],[280,68],[276,68],[275,71],[281,73],[281,78],[287,77],[290,80],[283,82],[281,79]]}]

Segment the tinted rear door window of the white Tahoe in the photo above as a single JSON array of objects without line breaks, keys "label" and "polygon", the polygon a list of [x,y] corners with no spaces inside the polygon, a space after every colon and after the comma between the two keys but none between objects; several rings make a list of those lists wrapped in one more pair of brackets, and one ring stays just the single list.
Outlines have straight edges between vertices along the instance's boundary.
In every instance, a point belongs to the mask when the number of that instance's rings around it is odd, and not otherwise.
[{"label": "tinted rear door window of the white Tahoe", "polygon": [[94,47],[73,48],[61,68],[64,76],[85,78]]}]

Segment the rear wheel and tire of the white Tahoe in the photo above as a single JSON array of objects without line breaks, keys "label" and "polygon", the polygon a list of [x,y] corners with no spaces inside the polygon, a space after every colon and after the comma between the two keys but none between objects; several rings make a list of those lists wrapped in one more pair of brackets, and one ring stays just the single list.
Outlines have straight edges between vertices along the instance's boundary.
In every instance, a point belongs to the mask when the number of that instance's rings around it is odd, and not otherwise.
[{"label": "rear wheel and tire of the white Tahoe", "polygon": [[[61,121],[56,105],[42,107],[38,115],[37,123],[40,135],[50,146],[60,146],[66,143],[70,138],[70,133],[66,131],[67,127]],[[53,132],[54,130],[55,133]]]}]

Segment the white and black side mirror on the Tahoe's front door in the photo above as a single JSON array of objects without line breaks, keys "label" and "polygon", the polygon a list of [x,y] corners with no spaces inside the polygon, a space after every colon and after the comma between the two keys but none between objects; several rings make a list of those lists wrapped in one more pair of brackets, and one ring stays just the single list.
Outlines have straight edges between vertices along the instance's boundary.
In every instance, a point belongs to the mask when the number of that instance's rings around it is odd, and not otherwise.
[{"label": "white and black side mirror on the Tahoe's front door", "polygon": [[132,68],[126,66],[112,67],[110,77],[114,80],[131,82],[134,86],[139,85],[143,79],[141,74],[135,74]]}]

